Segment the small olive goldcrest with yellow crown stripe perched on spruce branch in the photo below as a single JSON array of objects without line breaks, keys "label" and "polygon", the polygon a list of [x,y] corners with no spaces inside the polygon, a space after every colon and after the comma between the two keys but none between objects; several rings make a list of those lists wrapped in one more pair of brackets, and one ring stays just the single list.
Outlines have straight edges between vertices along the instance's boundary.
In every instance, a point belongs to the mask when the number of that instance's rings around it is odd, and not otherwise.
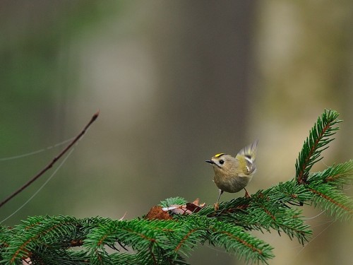
[{"label": "small olive goldcrest with yellow crown stripe perched on spruce branch", "polygon": [[[220,189],[220,194],[215,204],[215,211],[218,210],[218,202],[223,192],[239,192],[241,189],[245,189],[246,185],[251,181],[253,174],[256,172],[257,145],[258,140],[242,148],[235,158],[232,155],[218,153],[211,160],[205,161],[213,165],[213,170],[215,171],[213,179],[218,189]],[[245,196],[250,196],[246,189]]]}]

